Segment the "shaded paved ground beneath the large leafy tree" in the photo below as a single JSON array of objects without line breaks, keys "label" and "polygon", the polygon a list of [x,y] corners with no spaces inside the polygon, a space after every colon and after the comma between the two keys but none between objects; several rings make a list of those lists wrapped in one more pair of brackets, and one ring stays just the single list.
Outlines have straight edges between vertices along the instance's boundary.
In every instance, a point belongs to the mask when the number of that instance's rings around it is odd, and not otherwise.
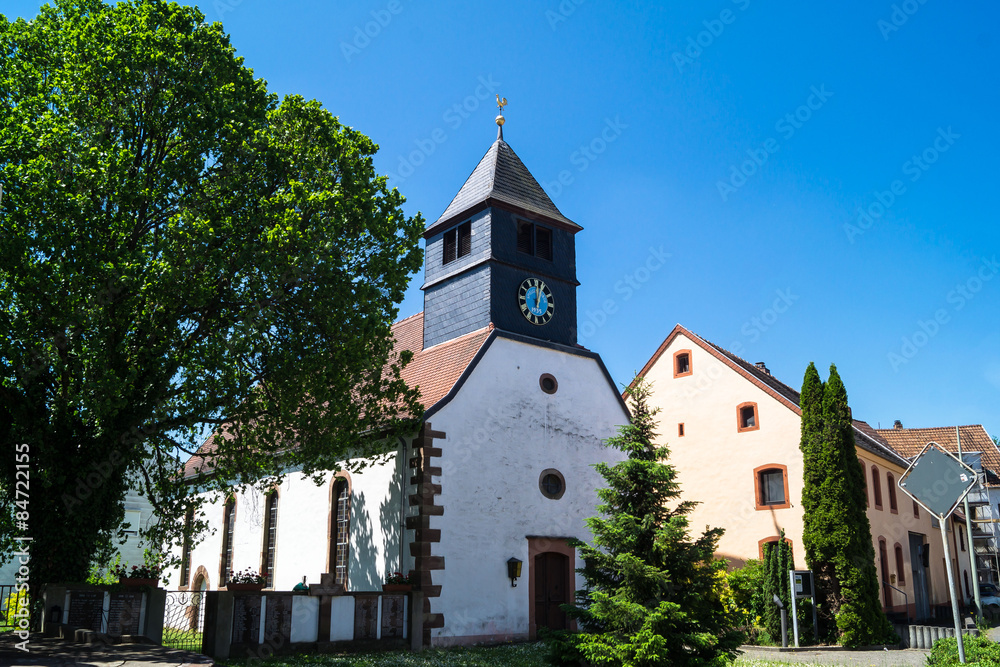
[{"label": "shaded paved ground beneath the large leafy tree", "polygon": [[212,665],[211,658],[187,651],[143,644],[85,646],[59,639],[32,635],[29,651],[14,647],[13,635],[0,635],[2,667],[181,667]]}]

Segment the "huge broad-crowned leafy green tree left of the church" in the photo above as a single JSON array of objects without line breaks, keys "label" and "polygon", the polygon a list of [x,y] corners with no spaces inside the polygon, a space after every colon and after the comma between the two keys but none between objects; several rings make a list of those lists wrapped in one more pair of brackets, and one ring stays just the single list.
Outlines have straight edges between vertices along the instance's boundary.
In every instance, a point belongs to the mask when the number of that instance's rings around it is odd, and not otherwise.
[{"label": "huge broad-crowned leafy green tree left of the church", "polygon": [[376,150],[269,93],[196,8],[0,16],[0,538],[34,538],[34,582],[86,577],[130,484],[183,516],[206,429],[221,490],[412,427],[390,325],[423,221]]}]

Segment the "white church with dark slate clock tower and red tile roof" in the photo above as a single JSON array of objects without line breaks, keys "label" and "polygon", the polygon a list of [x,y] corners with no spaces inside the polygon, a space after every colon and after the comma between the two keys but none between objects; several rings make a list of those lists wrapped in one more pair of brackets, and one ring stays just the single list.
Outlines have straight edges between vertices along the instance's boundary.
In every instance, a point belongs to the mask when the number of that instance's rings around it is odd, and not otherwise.
[{"label": "white church with dark slate clock tower and red tile roof", "polygon": [[[570,538],[590,540],[603,442],[629,413],[599,355],[577,344],[576,234],[503,139],[429,224],[424,310],[393,326],[426,412],[386,463],[289,474],[206,506],[215,531],[166,586],[217,590],[247,568],[290,590],[327,574],[348,592],[410,573],[425,645],[565,628],[583,587]],[[204,449],[204,447],[203,447]],[[185,474],[197,488],[202,457]]]}]

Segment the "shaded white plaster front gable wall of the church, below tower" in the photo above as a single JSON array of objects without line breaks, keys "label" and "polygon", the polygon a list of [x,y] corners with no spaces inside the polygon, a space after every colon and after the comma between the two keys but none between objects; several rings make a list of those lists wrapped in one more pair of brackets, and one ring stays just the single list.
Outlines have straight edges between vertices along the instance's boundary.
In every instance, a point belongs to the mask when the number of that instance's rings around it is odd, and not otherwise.
[{"label": "shaded white plaster front gable wall of the church, below tower", "polygon": [[[542,373],[557,379],[555,394],[540,389]],[[443,449],[444,515],[431,518],[442,531],[433,554],[444,556],[445,569],[433,574],[442,590],[431,608],[444,614],[445,627],[433,637],[527,635],[527,536],[589,540],[584,520],[596,514],[603,486],[591,466],[623,458],[602,441],[627,420],[596,361],[494,341],[458,396],[429,420],[447,435],[434,443]],[[566,479],[558,500],[539,491],[546,468]],[[507,578],[512,556],[524,561],[516,588]]]}]

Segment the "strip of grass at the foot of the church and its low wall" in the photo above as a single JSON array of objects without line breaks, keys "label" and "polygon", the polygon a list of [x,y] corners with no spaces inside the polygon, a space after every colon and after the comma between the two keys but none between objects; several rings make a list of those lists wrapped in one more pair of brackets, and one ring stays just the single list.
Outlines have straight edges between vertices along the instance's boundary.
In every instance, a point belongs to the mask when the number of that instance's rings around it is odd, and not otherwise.
[{"label": "strip of grass at the foot of the church and its low wall", "polygon": [[[505,644],[501,646],[470,646],[450,649],[430,649],[422,653],[386,651],[344,655],[278,656],[263,661],[227,660],[228,667],[545,667],[545,645]],[[220,665],[221,667],[221,665]],[[768,660],[737,660],[733,667],[788,667],[787,663]],[[795,667],[808,667],[796,665]]]}]

